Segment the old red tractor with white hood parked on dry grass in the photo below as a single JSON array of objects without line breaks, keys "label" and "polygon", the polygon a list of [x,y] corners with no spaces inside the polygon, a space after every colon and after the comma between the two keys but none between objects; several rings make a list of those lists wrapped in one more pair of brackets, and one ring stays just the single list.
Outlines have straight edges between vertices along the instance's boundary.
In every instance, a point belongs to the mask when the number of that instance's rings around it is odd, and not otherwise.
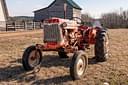
[{"label": "old red tractor with white hood parked on dry grass", "polygon": [[108,57],[107,31],[101,26],[87,27],[79,20],[51,18],[44,21],[43,44],[28,47],[22,57],[25,70],[40,66],[42,51],[57,51],[60,58],[68,58],[73,53],[70,75],[73,80],[82,79],[88,66],[85,50],[95,45],[95,59],[106,61]]}]

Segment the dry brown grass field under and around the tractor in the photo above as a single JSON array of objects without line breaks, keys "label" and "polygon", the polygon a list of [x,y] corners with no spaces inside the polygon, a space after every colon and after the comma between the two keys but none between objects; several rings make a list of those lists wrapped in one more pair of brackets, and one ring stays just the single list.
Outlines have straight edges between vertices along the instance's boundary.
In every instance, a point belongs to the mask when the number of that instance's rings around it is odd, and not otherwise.
[{"label": "dry brown grass field under and around the tractor", "polygon": [[41,70],[25,72],[21,58],[26,47],[42,43],[42,31],[0,33],[0,85],[128,85],[128,30],[109,30],[110,58],[95,63],[93,49],[88,52],[89,66],[83,80],[72,81],[70,59],[56,52],[43,53]]}]

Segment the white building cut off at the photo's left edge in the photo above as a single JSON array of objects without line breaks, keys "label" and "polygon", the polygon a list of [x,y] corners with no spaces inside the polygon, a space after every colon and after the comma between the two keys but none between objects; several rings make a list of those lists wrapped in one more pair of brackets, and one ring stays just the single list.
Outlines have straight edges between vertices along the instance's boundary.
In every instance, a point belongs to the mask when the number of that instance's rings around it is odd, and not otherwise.
[{"label": "white building cut off at the photo's left edge", "polygon": [[5,30],[8,19],[8,10],[5,0],[0,0],[0,30]]}]

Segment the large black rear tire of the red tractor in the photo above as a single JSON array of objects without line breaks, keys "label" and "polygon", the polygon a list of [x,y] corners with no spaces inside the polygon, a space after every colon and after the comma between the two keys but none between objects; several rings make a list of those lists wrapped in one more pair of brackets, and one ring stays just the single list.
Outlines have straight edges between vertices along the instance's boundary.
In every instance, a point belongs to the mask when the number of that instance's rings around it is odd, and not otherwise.
[{"label": "large black rear tire of the red tractor", "polygon": [[104,62],[109,57],[109,37],[106,32],[97,33],[95,57],[98,62]]}]

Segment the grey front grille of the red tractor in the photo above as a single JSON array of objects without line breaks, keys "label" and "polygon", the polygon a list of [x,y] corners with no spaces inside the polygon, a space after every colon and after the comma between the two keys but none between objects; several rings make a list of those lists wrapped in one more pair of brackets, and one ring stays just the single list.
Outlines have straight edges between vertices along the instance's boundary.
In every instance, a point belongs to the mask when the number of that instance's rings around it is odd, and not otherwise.
[{"label": "grey front grille of the red tractor", "polygon": [[62,40],[62,33],[58,24],[44,25],[44,42],[59,42]]}]

